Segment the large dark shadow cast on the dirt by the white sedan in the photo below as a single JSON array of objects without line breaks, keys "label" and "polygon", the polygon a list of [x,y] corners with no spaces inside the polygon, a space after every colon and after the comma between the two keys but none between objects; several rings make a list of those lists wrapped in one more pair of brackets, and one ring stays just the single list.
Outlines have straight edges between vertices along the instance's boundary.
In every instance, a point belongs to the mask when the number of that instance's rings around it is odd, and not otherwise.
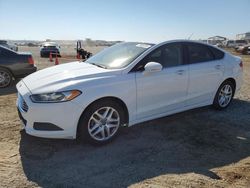
[{"label": "large dark shadow cast on the dirt by the white sedan", "polygon": [[124,128],[112,143],[95,147],[21,132],[27,179],[41,187],[127,187],[165,174],[211,169],[250,156],[250,103],[234,100],[224,111],[210,107]]}]

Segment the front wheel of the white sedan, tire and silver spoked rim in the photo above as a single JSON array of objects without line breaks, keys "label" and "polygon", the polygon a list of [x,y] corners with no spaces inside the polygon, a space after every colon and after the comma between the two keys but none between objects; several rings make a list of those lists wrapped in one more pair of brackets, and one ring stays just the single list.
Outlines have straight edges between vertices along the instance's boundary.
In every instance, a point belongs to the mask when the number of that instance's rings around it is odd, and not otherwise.
[{"label": "front wheel of the white sedan, tire and silver spoked rim", "polygon": [[123,108],[111,101],[97,101],[83,113],[78,125],[81,140],[105,144],[113,140],[124,124]]}]

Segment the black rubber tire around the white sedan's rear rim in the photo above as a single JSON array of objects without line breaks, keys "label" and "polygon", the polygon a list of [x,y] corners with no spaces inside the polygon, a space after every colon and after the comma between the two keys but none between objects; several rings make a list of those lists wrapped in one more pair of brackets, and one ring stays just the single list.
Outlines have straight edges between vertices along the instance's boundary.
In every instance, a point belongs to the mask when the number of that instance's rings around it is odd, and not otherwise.
[{"label": "black rubber tire around the white sedan's rear rim", "polygon": [[[231,95],[229,101],[228,101],[227,103],[225,103],[224,105],[222,105],[222,104],[220,103],[220,93],[222,92],[222,89],[223,89],[224,87],[226,87],[227,85],[230,86],[230,88],[232,89],[232,95]],[[222,93],[223,93],[223,92],[222,92]],[[220,85],[219,89],[218,89],[217,92],[216,92],[216,95],[215,95],[214,101],[213,101],[213,107],[214,107],[215,109],[217,109],[217,110],[223,110],[223,109],[227,108],[227,107],[231,104],[231,102],[232,102],[232,100],[233,100],[234,93],[235,93],[235,84],[234,84],[233,82],[229,81],[229,80],[224,81],[224,82]]]}]

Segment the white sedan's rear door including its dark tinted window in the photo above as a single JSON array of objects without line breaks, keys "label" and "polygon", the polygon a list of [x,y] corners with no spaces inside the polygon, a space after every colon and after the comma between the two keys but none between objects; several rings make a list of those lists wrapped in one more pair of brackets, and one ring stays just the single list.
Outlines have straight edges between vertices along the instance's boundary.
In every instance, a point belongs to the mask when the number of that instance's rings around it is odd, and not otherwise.
[{"label": "white sedan's rear door including its dark tinted window", "polygon": [[185,49],[189,63],[187,105],[211,103],[223,79],[223,61],[207,45],[186,43]]}]

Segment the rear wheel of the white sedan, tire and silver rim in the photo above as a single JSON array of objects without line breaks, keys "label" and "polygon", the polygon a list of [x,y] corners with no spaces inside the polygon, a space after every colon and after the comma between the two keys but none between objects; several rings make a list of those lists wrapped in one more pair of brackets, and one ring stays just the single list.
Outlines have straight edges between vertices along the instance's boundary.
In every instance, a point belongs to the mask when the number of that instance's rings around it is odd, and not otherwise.
[{"label": "rear wheel of the white sedan, tire and silver rim", "polygon": [[216,109],[222,110],[229,106],[235,92],[235,86],[230,81],[225,81],[219,87],[213,102]]}]

